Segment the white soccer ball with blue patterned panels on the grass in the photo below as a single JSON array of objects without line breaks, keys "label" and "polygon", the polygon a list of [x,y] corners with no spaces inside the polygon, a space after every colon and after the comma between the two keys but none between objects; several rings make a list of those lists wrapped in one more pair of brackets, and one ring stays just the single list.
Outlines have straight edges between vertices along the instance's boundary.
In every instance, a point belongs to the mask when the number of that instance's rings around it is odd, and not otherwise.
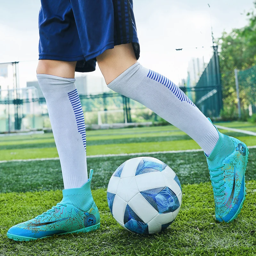
[{"label": "white soccer ball with blue patterned panels on the grass", "polygon": [[110,212],[125,229],[137,234],[163,231],[177,217],[182,191],[173,170],[154,157],[127,160],[108,183]]}]

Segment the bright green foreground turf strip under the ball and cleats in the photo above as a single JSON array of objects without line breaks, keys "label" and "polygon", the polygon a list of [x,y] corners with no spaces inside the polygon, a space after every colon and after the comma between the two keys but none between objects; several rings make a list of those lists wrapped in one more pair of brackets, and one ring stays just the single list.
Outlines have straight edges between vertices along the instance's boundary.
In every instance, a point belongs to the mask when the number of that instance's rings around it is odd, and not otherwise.
[{"label": "bright green foreground turf strip under the ball and cleats", "polygon": [[6,237],[9,227],[44,212],[61,200],[61,191],[0,194],[0,256],[7,255],[254,255],[256,253],[256,181],[247,182],[247,196],[232,223],[214,219],[209,182],[182,186],[183,200],[176,220],[164,232],[135,235],[110,214],[106,190],[92,191],[101,216],[100,230],[30,242]]}]

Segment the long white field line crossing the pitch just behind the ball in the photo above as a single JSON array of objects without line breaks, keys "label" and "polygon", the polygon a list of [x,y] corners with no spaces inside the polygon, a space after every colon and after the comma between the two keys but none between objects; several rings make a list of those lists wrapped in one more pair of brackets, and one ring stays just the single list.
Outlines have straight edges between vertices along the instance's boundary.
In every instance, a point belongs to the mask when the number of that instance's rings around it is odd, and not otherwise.
[{"label": "long white field line crossing the pitch just behind the ball", "polygon": [[[256,148],[255,146],[249,146],[248,148]],[[173,150],[173,151],[156,151],[156,152],[142,152],[142,153],[130,153],[130,154],[108,154],[108,155],[94,155],[87,156],[87,158],[100,158],[100,157],[111,157],[111,156],[147,156],[154,154],[174,154],[174,153],[187,153],[187,152],[201,152],[203,149],[188,149],[188,150]],[[35,159],[14,159],[14,160],[3,160],[0,164],[9,162],[33,162],[33,161],[48,161],[48,160],[60,160],[59,157],[54,158],[35,158]]]}]

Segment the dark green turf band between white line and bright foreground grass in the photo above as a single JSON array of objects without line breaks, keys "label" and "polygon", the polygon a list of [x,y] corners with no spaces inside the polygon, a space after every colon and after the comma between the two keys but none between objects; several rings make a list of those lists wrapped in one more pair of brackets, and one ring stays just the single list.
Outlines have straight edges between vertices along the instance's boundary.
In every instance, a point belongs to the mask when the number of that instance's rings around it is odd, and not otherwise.
[{"label": "dark green turf band between white line and bright foreground grass", "polygon": [[[181,184],[209,181],[203,152],[150,155],[172,167]],[[136,156],[132,156],[136,157]],[[107,188],[116,168],[131,156],[88,158],[88,171],[94,169],[92,188]],[[59,160],[8,162],[0,164],[0,193],[63,189]],[[250,149],[246,180],[256,180],[256,148]]]}]

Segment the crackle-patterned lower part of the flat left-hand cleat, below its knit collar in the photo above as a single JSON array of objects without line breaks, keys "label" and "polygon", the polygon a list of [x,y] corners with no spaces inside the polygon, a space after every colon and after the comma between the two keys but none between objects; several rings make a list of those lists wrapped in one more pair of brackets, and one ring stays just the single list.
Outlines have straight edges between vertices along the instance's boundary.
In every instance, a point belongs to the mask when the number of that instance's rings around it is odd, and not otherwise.
[{"label": "crackle-patterned lower part of the flat left-hand cleat, below its knit collar", "polygon": [[29,241],[53,235],[87,233],[100,227],[100,215],[95,204],[87,212],[70,204],[52,209],[54,212],[46,212],[43,216],[13,226],[8,230],[7,237]]}]

